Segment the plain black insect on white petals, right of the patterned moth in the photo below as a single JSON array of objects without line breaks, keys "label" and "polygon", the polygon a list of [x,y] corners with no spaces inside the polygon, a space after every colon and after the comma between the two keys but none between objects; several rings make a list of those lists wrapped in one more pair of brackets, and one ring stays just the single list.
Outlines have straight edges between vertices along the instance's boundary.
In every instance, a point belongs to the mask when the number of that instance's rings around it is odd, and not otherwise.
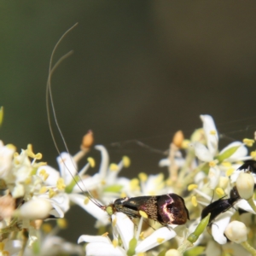
[{"label": "plain black insect on white petals, right of the patterned moth", "polygon": [[201,219],[207,217],[209,213],[211,213],[211,217],[209,220],[209,224],[212,223],[214,218],[220,213],[227,212],[231,207],[235,205],[237,201],[241,199],[240,195],[237,192],[236,187],[231,189],[230,198],[229,199],[218,199],[217,201],[213,201],[207,207],[205,207],[201,212]]}]

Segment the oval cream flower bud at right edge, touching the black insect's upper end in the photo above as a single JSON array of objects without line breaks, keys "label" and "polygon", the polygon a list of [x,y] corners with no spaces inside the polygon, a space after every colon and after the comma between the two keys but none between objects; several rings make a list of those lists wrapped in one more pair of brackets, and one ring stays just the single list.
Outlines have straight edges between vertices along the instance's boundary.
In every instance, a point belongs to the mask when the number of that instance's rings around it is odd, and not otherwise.
[{"label": "oval cream flower bud at right edge, touching the black insect's upper end", "polygon": [[241,172],[236,179],[236,188],[241,198],[249,200],[253,197],[254,179],[251,173]]}]

